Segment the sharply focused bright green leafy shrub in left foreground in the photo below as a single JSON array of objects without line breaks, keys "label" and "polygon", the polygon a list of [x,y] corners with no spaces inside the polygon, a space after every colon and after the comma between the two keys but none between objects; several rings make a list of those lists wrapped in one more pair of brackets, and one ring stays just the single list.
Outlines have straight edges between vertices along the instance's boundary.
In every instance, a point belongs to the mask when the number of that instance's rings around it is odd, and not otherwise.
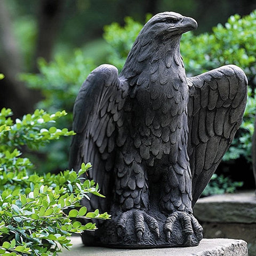
[{"label": "sharply focused bright green leafy shrub in left foreground", "polygon": [[21,157],[21,146],[38,148],[73,135],[68,129],[46,126],[66,112],[50,115],[37,109],[15,122],[11,114],[5,108],[0,112],[0,254],[56,255],[60,246],[71,246],[71,233],[96,228],[92,222],[84,226],[75,218],[108,219],[109,215],[87,212],[79,204],[89,193],[102,196],[94,181],[81,178],[90,163],[82,164],[78,173],[66,170],[38,175],[30,160]]}]

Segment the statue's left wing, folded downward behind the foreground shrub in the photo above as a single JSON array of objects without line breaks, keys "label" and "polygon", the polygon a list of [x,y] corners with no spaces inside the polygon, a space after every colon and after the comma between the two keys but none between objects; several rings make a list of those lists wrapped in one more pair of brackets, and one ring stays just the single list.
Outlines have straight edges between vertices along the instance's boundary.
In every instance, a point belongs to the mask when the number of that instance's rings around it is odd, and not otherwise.
[{"label": "statue's left wing, folded downward behind the foreground shrub", "polygon": [[[83,162],[91,162],[89,178],[99,183],[101,194],[105,196],[109,196],[109,188],[113,187],[109,184],[114,180],[111,179],[113,150],[125,93],[117,68],[101,65],[83,83],[73,110],[76,135],[71,141],[69,166],[78,171]],[[89,210],[106,211],[105,204],[106,200],[95,196],[86,206]]]}]

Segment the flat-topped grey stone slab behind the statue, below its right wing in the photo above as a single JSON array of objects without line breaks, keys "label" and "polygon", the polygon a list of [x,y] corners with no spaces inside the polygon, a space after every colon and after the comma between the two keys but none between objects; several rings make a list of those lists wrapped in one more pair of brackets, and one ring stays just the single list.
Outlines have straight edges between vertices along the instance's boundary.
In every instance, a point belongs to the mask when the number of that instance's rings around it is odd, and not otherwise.
[{"label": "flat-topped grey stone slab behind the statue, below its right wing", "polygon": [[198,199],[194,215],[200,222],[256,223],[254,191]]}]

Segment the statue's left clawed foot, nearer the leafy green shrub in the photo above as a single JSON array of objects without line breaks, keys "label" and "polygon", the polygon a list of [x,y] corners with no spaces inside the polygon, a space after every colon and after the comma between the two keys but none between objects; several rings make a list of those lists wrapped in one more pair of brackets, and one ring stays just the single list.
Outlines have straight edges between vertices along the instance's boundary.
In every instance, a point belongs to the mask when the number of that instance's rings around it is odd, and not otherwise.
[{"label": "statue's left clawed foot, nearer the leafy green shrub", "polygon": [[157,238],[159,238],[159,226],[156,219],[142,210],[130,210],[121,215],[117,221],[117,234],[119,237],[122,236],[126,221],[129,218],[133,218],[134,230],[138,242],[141,241],[141,237],[145,233],[145,222],[147,223],[149,229],[156,235]]}]

